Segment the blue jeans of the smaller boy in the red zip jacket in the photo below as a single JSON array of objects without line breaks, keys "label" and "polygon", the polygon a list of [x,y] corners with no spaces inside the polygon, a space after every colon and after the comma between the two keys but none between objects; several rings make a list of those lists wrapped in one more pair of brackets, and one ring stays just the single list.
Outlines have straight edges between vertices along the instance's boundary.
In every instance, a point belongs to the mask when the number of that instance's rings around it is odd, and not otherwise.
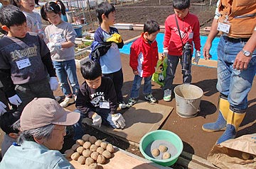
[{"label": "blue jeans of the smaller boy in the red zip jacket", "polygon": [[[144,95],[152,93],[151,78],[152,78],[152,76],[144,77],[144,88],[143,88]],[[139,88],[140,88],[141,84],[142,84],[142,77],[135,75],[134,82],[132,84],[132,91],[131,91],[130,98],[139,98]]]}]

